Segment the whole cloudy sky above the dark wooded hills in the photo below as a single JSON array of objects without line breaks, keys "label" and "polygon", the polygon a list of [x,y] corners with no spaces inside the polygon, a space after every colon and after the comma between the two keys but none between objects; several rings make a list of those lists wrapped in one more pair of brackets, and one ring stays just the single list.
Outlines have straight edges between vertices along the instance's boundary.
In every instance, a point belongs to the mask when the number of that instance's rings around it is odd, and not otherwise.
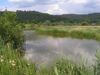
[{"label": "whole cloudy sky above the dark wooded hills", "polygon": [[100,0],[0,0],[0,10],[35,10],[49,14],[100,12]]}]

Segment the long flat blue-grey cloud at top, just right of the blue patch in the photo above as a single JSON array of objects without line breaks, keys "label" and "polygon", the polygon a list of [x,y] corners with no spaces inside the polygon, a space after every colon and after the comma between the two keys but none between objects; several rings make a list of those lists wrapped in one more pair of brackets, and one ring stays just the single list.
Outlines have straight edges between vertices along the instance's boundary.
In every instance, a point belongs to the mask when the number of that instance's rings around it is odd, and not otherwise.
[{"label": "long flat blue-grey cloud at top, just right of the blue patch", "polygon": [[48,5],[57,3],[58,0],[33,0],[33,1],[10,1],[12,4],[16,5],[17,7],[24,8],[24,7],[32,7],[35,5]]}]

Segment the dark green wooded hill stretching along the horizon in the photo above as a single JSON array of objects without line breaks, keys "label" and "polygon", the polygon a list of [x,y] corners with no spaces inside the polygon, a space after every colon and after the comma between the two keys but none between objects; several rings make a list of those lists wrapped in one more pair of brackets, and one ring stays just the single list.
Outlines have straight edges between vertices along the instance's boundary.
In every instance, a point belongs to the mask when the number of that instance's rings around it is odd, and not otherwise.
[{"label": "dark green wooded hill stretching along the horizon", "polygon": [[[5,11],[0,12],[2,15]],[[6,11],[8,12],[8,11]],[[18,23],[42,23],[42,24],[81,24],[81,25],[99,25],[100,13],[91,14],[63,14],[50,15],[47,13],[40,13],[37,11],[16,11],[16,21]]]}]

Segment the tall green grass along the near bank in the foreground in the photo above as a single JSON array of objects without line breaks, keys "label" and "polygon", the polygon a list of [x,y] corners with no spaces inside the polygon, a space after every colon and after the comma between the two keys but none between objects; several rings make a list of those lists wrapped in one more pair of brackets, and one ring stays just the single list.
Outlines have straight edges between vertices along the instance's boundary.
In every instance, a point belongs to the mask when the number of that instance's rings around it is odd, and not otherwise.
[{"label": "tall green grass along the near bank in the foreground", "polygon": [[[98,69],[98,68],[97,68]],[[0,75],[97,75],[96,66],[86,67],[70,60],[59,60],[50,68],[37,68],[25,61],[17,50],[0,44]]]}]

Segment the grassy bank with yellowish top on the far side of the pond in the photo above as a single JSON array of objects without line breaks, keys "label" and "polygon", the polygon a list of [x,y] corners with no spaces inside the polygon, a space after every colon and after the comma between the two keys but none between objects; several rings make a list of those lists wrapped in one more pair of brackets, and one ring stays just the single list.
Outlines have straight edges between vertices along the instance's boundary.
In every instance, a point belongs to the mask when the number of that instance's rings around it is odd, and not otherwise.
[{"label": "grassy bank with yellowish top on the far side of the pond", "polygon": [[71,37],[100,41],[100,26],[47,26],[36,28],[36,32],[54,37]]}]

